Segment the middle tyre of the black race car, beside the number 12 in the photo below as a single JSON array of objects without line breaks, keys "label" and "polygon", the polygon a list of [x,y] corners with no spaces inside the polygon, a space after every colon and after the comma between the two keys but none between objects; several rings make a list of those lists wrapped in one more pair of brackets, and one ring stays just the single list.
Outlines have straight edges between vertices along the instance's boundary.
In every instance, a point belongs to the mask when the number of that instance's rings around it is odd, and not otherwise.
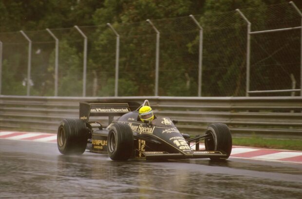
[{"label": "middle tyre of the black race car, beside the number 12", "polygon": [[127,124],[115,123],[108,134],[108,154],[112,160],[126,161],[132,156],[133,133]]}]

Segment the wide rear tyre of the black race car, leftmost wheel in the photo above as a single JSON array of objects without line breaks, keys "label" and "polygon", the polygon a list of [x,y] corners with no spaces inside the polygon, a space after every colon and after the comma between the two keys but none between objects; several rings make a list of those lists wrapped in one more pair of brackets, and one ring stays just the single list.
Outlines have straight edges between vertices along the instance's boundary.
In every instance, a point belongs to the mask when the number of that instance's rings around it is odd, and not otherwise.
[{"label": "wide rear tyre of the black race car, leftmost wheel", "polygon": [[57,148],[64,155],[81,155],[87,145],[88,129],[79,119],[63,119],[57,131]]}]

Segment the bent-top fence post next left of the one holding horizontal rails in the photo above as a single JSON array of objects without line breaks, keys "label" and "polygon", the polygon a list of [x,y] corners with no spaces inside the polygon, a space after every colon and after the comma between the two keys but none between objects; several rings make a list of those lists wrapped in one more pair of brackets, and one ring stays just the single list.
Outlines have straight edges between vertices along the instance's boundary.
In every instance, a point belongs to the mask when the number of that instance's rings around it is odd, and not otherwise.
[{"label": "bent-top fence post next left of the one holding horizontal rails", "polygon": [[198,97],[202,96],[202,51],[203,51],[203,28],[199,22],[194,18],[193,15],[190,15],[190,18],[196,23],[199,28],[199,54],[198,54]]}]

